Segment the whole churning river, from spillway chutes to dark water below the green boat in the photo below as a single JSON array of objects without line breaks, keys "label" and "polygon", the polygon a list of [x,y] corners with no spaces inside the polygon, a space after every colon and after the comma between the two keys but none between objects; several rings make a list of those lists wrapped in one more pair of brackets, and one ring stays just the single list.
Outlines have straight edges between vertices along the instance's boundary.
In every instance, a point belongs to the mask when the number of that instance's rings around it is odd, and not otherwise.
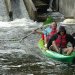
[{"label": "whole churning river, from spillway chutes to dark water below the green boat", "polygon": [[10,22],[4,0],[0,3],[0,10],[3,9],[0,12],[0,75],[75,75],[74,65],[43,56],[37,45],[41,37],[38,34],[22,40],[42,25],[29,18],[22,0],[12,0],[14,20]]}]

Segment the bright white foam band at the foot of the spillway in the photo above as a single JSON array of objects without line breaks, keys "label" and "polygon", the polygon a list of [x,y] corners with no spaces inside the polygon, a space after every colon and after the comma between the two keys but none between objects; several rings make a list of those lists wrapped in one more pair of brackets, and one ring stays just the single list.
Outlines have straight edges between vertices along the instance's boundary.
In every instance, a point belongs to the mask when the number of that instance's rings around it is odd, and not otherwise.
[{"label": "bright white foam band at the foot of the spillway", "polygon": [[11,22],[2,22],[0,21],[0,28],[1,27],[16,27],[16,26],[24,26],[25,28],[29,27],[38,27],[40,23],[37,23],[36,21],[28,20],[26,18],[23,19],[15,19]]}]

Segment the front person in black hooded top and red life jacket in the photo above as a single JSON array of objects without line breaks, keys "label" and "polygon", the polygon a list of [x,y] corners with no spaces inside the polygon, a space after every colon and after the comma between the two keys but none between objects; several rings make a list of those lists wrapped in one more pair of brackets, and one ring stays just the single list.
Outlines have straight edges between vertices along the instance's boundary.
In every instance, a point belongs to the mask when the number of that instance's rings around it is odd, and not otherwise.
[{"label": "front person in black hooded top and red life jacket", "polygon": [[[72,44],[72,47],[67,47],[68,42]],[[66,33],[64,26],[59,27],[58,33],[51,37],[47,44],[47,48],[56,52],[64,52],[67,55],[71,54],[74,50],[75,39]]]}]

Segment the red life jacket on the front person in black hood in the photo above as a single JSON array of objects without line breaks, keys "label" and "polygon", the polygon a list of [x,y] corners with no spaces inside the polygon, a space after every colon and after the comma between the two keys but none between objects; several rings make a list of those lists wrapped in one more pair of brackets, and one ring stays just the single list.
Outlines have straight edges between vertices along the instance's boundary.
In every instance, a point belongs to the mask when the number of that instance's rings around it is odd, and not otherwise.
[{"label": "red life jacket on the front person in black hood", "polygon": [[58,35],[57,39],[55,40],[55,43],[58,47],[66,48],[67,46],[66,34],[63,36]]}]

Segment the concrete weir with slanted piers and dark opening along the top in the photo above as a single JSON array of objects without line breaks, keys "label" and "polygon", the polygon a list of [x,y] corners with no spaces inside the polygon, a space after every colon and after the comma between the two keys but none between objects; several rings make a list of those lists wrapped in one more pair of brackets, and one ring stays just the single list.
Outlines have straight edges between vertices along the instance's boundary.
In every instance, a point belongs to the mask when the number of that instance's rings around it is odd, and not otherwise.
[{"label": "concrete weir with slanted piers and dark opening along the top", "polygon": [[[45,21],[47,16],[53,12],[60,12],[65,17],[74,17],[74,0],[72,0],[72,4],[70,4],[70,0],[4,0],[7,8],[7,12],[9,15],[9,20],[14,19],[14,13],[17,12],[15,15],[16,18],[25,17],[20,16],[20,14],[24,14],[26,7],[28,15],[31,20],[34,21]],[[23,8],[20,9],[20,5],[23,4]],[[65,4],[65,5],[64,5]],[[63,6],[64,5],[64,6]],[[14,8],[16,6],[16,8]],[[68,8],[69,7],[69,8]],[[51,10],[47,10],[51,8]],[[22,10],[22,11],[21,11]],[[24,10],[24,11],[23,11]],[[68,11],[68,12],[67,12]],[[72,11],[72,13],[70,13]]]}]

